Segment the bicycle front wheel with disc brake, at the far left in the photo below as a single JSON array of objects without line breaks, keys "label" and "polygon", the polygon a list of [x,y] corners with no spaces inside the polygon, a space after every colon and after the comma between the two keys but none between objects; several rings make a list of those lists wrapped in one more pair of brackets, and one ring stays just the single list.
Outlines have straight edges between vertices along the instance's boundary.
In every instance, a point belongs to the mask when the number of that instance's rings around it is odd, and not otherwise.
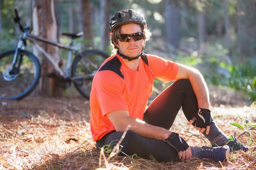
[{"label": "bicycle front wheel with disc brake, at the far left", "polygon": [[17,55],[17,73],[11,73],[14,55],[15,50],[0,54],[0,100],[22,99],[29,95],[41,75],[38,59],[29,51],[23,50]]}]

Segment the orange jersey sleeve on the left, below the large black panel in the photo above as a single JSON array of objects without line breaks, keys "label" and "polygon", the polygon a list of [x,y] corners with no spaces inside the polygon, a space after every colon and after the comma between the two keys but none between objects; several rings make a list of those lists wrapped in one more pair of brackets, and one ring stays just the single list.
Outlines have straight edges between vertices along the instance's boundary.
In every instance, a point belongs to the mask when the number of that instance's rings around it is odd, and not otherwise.
[{"label": "orange jersey sleeve on the left, below the large black panel", "polygon": [[99,71],[94,78],[95,94],[102,116],[116,110],[128,111],[123,95],[124,82],[121,77],[113,71]]}]

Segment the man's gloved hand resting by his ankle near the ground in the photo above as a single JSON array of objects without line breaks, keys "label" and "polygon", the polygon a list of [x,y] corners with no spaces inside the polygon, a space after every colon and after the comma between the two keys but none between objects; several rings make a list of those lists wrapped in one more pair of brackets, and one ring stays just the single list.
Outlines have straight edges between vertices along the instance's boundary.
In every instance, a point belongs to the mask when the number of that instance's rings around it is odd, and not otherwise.
[{"label": "man's gloved hand resting by his ankle near the ground", "polygon": [[165,140],[171,147],[173,147],[182,161],[192,158],[192,153],[187,142],[182,139],[178,133],[172,132],[171,135]]}]

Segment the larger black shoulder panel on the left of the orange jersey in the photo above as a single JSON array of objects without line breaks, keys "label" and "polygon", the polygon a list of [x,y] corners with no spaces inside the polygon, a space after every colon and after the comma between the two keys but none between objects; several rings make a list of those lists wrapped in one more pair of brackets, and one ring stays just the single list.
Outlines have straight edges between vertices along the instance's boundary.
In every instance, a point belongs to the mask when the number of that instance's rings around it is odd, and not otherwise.
[{"label": "larger black shoulder panel on the left of the orange jersey", "polygon": [[121,65],[122,63],[119,61],[119,59],[115,56],[108,62],[106,62],[102,67],[99,69],[99,71],[109,70],[115,72],[117,75],[122,77],[124,79],[124,75],[121,72]]}]

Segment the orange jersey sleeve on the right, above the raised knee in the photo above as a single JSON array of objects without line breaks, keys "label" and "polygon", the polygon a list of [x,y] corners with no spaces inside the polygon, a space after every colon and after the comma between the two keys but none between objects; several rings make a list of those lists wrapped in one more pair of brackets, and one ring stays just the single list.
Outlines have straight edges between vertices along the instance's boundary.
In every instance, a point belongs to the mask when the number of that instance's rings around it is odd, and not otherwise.
[{"label": "orange jersey sleeve on the right, above the raised knee", "polygon": [[155,78],[165,83],[175,79],[178,72],[177,63],[153,55],[149,56],[149,62]]}]

